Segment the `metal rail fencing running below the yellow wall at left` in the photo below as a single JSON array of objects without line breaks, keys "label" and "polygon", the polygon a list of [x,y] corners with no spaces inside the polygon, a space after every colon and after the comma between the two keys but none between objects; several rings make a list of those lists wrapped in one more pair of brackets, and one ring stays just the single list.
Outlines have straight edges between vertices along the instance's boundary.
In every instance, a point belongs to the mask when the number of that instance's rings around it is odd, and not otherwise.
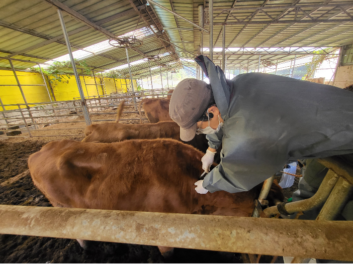
[{"label": "metal rail fencing running below the yellow wall at left", "polygon": [[[173,88],[168,88],[173,89]],[[120,119],[120,121],[140,120],[138,105],[146,98],[167,98],[172,95],[166,89],[143,90],[135,93],[112,93],[104,96],[89,96],[84,98],[91,122],[110,122],[115,119],[104,119],[102,115],[115,115],[120,101],[125,101],[126,111],[123,114],[136,114],[136,118]],[[164,92],[164,93],[163,93]],[[136,103],[134,103],[136,98]],[[68,101],[39,102],[27,104],[0,104],[0,137],[53,137],[53,136],[83,136],[72,130],[83,130],[86,125],[83,117],[82,101],[74,98]],[[16,107],[16,109],[14,109]],[[131,107],[133,107],[131,109]],[[6,108],[11,110],[6,110]],[[144,113],[143,111],[141,111]],[[147,120],[147,118],[142,118]],[[76,127],[52,128],[56,124],[80,124]],[[43,134],[46,131],[62,131],[62,133]],[[40,132],[40,134],[38,134]]]}]

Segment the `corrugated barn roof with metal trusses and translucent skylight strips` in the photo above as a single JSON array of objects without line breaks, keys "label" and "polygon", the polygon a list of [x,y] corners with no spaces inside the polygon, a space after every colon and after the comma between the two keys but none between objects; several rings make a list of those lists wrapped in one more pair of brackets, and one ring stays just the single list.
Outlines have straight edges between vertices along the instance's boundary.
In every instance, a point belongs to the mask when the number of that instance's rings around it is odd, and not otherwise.
[{"label": "corrugated barn roof with metal trusses and translucent skylight strips", "polygon": [[[134,34],[138,45],[128,49],[134,78],[192,66],[192,59],[209,54],[209,34],[198,24],[198,6],[205,9],[209,30],[209,2],[203,0],[2,0],[0,1],[0,68],[27,69],[68,53],[57,8],[63,10],[73,51],[83,50],[95,71],[127,63],[124,48],[109,46],[98,52],[93,44],[114,36]],[[182,16],[176,17],[171,12]],[[255,68],[288,61],[353,42],[352,0],[214,0],[213,61],[222,59],[225,25],[227,68]],[[203,45],[200,43],[201,32]],[[130,35],[131,36],[131,35]],[[140,45],[142,44],[142,45]],[[68,71],[70,71],[68,69]],[[121,69],[128,73],[127,68]]]}]

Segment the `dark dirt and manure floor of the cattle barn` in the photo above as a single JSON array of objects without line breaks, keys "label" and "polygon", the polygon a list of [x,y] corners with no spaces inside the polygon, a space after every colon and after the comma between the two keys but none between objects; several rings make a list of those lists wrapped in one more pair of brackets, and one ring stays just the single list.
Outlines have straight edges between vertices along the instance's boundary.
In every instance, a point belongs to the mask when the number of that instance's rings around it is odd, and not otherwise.
[{"label": "dark dirt and manure floor of the cattle barn", "polygon": [[[123,114],[122,119],[137,118],[136,114]],[[97,119],[115,119],[115,115],[99,115]],[[79,117],[77,120],[83,120]],[[93,120],[93,119],[92,119]],[[147,121],[145,121],[147,122]],[[139,121],[121,121],[121,123],[139,123]],[[4,185],[6,180],[28,169],[28,156],[51,140],[84,138],[84,123],[67,123],[45,127],[43,129],[73,130],[43,131],[34,135],[57,135],[55,137],[7,138],[0,139],[0,204],[51,207],[49,201],[33,185],[30,174]],[[59,133],[58,133],[59,132]],[[65,134],[78,134],[65,136]],[[298,180],[296,179],[296,182]],[[287,198],[296,187],[285,191]],[[238,253],[175,249],[172,258],[166,260],[157,247],[94,242],[83,250],[76,240],[43,238],[33,236],[0,235],[0,263],[242,263]],[[272,257],[263,256],[261,263],[268,263]],[[276,263],[283,263],[280,257]]]}]

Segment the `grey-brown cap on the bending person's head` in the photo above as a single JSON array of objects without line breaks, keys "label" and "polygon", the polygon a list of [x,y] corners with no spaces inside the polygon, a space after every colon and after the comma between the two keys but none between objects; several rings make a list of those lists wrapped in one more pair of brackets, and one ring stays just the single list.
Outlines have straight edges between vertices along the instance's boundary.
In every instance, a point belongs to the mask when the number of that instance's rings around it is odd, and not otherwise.
[{"label": "grey-brown cap on the bending person's head", "polygon": [[169,116],[180,126],[180,139],[190,141],[196,134],[197,120],[211,98],[211,86],[194,78],[181,80],[172,94]]}]

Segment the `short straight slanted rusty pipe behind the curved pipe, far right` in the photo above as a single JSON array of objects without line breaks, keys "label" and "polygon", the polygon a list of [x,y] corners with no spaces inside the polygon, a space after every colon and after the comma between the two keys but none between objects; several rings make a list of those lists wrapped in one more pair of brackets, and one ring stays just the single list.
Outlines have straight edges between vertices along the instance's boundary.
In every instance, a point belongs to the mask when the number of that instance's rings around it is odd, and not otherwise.
[{"label": "short straight slanted rusty pipe behind the curved pipe, far right", "polygon": [[339,178],[316,220],[334,220],[342,211],[353,190],[353,184]]}]

